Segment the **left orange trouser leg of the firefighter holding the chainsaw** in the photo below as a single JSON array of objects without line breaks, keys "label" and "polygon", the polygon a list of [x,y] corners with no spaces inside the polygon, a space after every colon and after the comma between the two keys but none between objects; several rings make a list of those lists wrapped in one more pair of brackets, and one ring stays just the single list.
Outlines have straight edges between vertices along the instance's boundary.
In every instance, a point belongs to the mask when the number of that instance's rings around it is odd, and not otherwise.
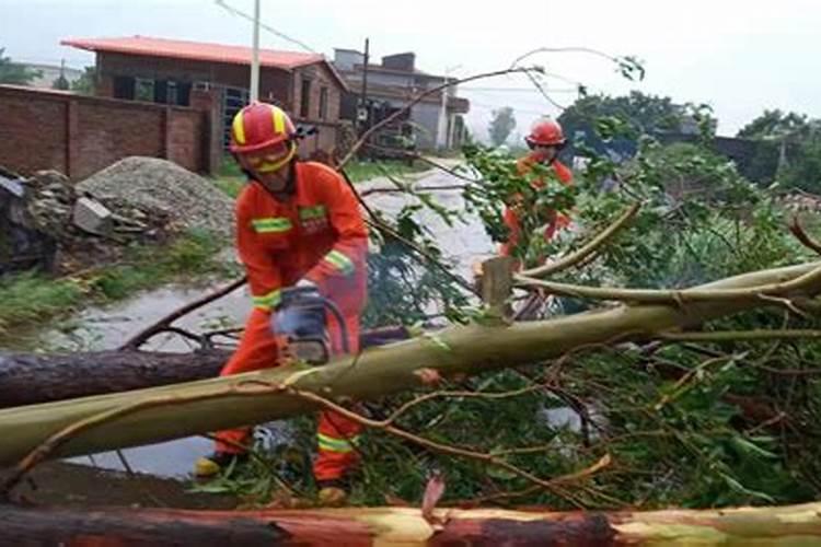
[{"label": "left orange trouser leg of the firefighter holding the chainsaw", "polygon": [[[261,310],[251,312],[240,346],[220,371],[220,376],[277,365],[277,340],[270,331],[269,323],[270,314]],[[248,427],[219,431],[215,437],[217,438],[216,450],[219,452],[240,453],[242,450],[236,447],[235,443],[248,447],[252,443]]]}]

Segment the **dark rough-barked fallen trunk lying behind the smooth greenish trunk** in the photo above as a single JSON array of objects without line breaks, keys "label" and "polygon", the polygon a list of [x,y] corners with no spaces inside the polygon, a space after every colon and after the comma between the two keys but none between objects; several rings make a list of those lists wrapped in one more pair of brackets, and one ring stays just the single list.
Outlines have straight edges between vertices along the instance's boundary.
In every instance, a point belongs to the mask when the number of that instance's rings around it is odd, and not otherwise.
[{"label": "dark rough-barked fallen trunk lying behind the smooth greenish trunk", "polygon": [[[369,348],[409,336],[404,327],[378,328],[362,331],[359,344]],[[0,408],[217,377],[230,356],[231,351],[217,348],[190,353],[0,353]]]}]

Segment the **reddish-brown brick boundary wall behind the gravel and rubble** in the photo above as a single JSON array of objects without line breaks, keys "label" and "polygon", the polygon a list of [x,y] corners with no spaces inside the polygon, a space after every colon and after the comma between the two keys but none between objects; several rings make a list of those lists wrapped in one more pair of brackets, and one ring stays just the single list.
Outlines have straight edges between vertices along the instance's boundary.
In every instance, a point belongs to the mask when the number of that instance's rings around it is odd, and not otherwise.
[{"label": "reddish-brown brick boundary wall behind the gravel and rubble", "polygon": [[129,155],[209,171],[208,115],[190,108],[0,85],[0,165],[83,178]]}]

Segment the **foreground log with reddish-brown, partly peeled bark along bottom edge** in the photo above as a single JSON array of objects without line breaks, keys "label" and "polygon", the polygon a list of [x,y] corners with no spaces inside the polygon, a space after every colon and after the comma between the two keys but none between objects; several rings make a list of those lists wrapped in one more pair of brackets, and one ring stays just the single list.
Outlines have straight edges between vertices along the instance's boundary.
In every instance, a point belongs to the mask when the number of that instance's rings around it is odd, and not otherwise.
[{"label": "foreground log with reddish-brown, partly peeled bark along bottom edge", "polygon": [[550,546],[818,545],[821,503],[782,508],[567,512],[346,508],[263,511],[0,505],[8,545]]}]

